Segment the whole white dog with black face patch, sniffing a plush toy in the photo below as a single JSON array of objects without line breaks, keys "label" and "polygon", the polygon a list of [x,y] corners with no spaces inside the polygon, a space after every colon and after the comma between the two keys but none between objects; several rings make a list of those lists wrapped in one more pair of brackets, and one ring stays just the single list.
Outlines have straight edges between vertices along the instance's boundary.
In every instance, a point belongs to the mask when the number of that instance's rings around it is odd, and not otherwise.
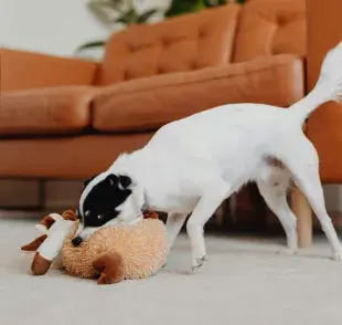
[{"label": "whole white dog with black face patch, sniffing a plush toy", "polygon": [[191,213],[186,231],[192,266],[199,268],[206,260],[204,224],[223,200],[252,180],[279,218],[287,250],[295,252],[296,218],[286,200],[293,179],[320,220],[333,259],[340,260],[342,249],[324,207],[318,154],[302,124],[322,103],[341,95],[342,42],[325,56],[314,90],[288,109],[223,105],[163,126],[146,147],[121,155],[85,184],[74,244],[98,227],[133,223],[142,218],[141,210],[151,209],[169,213],[171,248]]}]

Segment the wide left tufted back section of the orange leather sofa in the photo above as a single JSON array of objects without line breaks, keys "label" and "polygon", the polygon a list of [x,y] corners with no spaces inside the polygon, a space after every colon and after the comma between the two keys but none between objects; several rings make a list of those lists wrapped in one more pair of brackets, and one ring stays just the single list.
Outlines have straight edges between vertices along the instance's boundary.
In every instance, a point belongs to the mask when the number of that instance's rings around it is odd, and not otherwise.
[{"label": "wide left tufted back section of the orange leather sofa", "polygon": [[108,41],[97,84],[192,71],[229,61],[239,7],[131,27]]}]

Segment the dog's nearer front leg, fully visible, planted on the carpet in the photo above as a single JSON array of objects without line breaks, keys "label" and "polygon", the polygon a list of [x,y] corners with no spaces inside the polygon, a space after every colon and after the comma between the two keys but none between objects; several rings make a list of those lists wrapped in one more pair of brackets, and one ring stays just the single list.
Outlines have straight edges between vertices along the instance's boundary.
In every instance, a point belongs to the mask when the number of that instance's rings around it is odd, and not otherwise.
[{"label": "dog's nearer front leg, fully visible, planted on the carpet", "polygon": [[200,268],[206,261],[203,228],[214,214],[223,200],[232,195],[232,187],[220,179],[207,186],[186,223],[186,232],[192,249],[192,270]]}]

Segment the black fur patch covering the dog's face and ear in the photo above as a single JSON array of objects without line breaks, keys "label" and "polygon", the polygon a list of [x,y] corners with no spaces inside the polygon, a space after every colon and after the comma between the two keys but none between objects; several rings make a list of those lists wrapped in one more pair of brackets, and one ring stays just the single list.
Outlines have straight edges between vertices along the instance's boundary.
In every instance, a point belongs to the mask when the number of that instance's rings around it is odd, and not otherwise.
[{"label": "black fur patch covering the dog's face and ear", "polygon": [[118,206],[131,195],[132,184],[128,176],[109,175],[98,182],[85,198],[82,222],[85,227],[100,227],[116,218]]}]

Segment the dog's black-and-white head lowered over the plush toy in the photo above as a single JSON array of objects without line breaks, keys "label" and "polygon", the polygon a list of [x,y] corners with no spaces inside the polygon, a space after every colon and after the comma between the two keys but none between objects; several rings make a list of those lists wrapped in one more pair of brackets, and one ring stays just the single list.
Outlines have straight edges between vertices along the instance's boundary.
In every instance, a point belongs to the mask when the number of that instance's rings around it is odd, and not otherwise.
[{"label": "dog's black-and-white head lowered over the plush toy", "polygon": [[143,191],[127,175],[100,174],[84,184],[79,227],[74,245],[79,245],[104,226],[131,224],[142,218]]}]

